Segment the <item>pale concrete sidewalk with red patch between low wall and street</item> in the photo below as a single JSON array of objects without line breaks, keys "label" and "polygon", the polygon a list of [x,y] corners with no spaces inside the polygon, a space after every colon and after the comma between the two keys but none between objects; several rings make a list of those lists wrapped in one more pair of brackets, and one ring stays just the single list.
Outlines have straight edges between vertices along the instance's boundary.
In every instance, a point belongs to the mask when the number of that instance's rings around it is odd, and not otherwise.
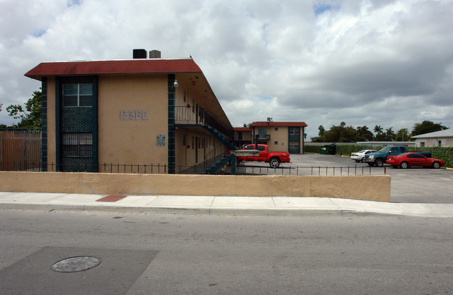
[{"label": "pale concrete sidewalk with red patch between low wall and street", "polygon": [[125,196],[0,192],[0,209],[229,215],[378,213],[453,217],[453,204],[385,203],[328,197]]}]

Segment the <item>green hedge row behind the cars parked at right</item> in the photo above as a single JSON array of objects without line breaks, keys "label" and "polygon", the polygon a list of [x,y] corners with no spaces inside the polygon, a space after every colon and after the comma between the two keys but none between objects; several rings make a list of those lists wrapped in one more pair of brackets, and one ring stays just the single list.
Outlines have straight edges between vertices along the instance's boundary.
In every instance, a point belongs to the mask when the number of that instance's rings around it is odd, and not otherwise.
[{"label": "green hedge row behind the cars parked at right", "polygon": [[[360,144],[342,145],[336,144],[337,155],[341,151],[343,156],[351,156],[355,151],[362,151],[363,149],[375,149],[379,151],[383,146],[367,146]],[[321,153],[321,146],[304,146],[307,153]],[[430,151],[432,158],[440,159],[445,162],[445,167],[453,167],[453,147],[429,147],[429,146],[408,146],[408,151]]]}]

